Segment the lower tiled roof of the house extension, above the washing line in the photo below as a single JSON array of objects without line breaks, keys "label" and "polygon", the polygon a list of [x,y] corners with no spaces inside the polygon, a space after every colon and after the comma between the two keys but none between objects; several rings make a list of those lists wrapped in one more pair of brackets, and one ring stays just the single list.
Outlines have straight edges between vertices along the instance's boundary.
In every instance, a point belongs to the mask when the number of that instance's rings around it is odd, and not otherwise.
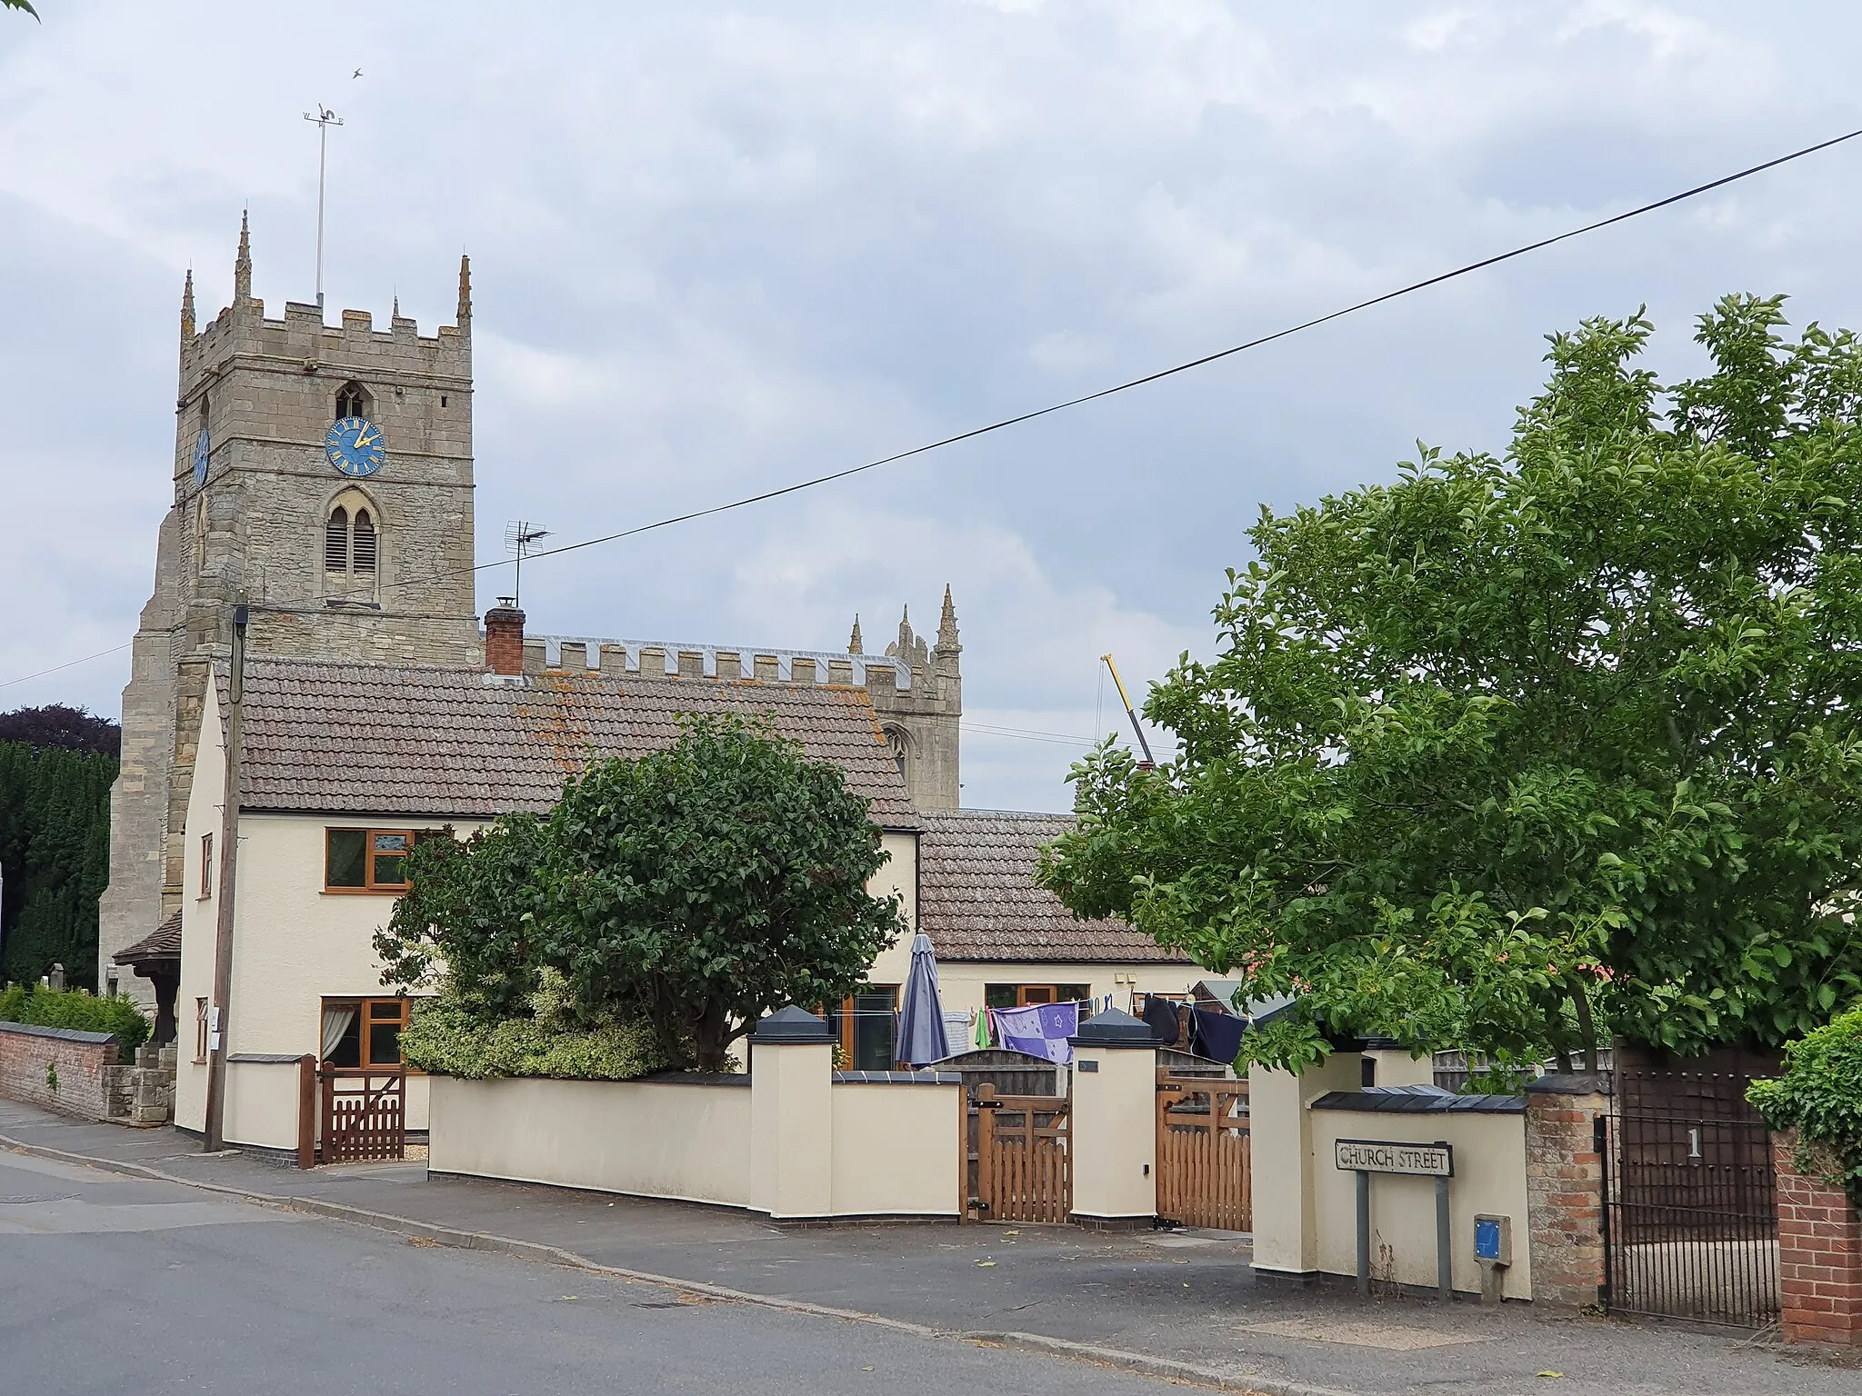
[{"label": "lower tiled roof of the house extension, above the washing line", "polygon": [[1071,815],[1005,810],[922,813],[918,929],[940,960],[1188,964],[1125,921],[1076,921],[1035,886],[1035,854]]}]

